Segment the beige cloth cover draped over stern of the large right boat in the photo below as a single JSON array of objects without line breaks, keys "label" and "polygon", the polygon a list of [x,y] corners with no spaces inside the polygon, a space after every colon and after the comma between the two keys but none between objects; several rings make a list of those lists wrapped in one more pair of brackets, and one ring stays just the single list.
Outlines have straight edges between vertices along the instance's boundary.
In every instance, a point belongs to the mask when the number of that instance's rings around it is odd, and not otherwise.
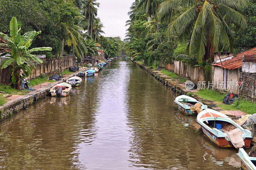
[{"label": "beige cloth cover draped over stern of the large right boat", "polygon": [[236,128],[232,131],[227,131],[227,136],[236,149],[244,147],[244,140],[240,129]]}]

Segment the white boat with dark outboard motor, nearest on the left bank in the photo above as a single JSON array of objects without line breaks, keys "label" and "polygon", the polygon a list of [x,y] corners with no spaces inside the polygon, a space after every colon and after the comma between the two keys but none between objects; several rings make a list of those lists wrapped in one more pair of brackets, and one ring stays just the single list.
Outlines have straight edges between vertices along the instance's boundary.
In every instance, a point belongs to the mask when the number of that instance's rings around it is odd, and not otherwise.
[{"label": "white boat with dark outboard motor, nearest on the left bank", "polygon": [[71,85],[65,82],[53,86],[50,93],[53,97],[66,97],[72,89]]}]

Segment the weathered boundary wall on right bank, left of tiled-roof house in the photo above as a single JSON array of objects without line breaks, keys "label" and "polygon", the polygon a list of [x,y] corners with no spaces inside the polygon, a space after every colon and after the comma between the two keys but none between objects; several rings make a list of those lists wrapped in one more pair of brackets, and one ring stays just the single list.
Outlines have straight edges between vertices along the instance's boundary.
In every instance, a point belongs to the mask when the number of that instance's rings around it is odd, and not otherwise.
[{"label": "weathered boundary wall on right bank, left of tiled-roof house", "polygon": [[[189,80],[197,83],[198,81],[206,81],[209,80],[206,79],[206,70],[204,66],[187,66],[186,63],[182,61],[173,61],[171,63],[162,63],[159,61],[159,67],[165,68],[167,70],[170,70],[179,76],[187,77]],[[210,77],[210,75],[208,76]]]}]

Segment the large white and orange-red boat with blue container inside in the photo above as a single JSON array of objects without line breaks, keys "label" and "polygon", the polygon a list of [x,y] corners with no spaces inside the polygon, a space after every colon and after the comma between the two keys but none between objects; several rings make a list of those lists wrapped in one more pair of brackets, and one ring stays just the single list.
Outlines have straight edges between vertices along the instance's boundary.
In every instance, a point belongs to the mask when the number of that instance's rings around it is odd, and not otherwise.
[{"label": "large white and orange-red boat with blue container inside", "polygon": [[252,132],[223,113],[205,109],[197,115],[196,122],[201,125],[204,135],[219,147],[250,147]]}]

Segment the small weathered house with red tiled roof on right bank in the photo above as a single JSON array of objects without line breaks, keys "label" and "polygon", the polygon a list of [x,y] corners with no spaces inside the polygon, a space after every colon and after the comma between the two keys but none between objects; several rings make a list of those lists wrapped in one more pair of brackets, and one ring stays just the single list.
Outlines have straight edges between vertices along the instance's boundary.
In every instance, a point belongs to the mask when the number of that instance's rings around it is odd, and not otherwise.
[{"label": "small weathered house with red tiled roof on right bank", "polygon": [[233,54],[233,52],[214,53],[214,63],[212,64],[212,86],[220,91],[225,89],[228,92],[239,94],[242,85],[244,85],[244,82],[240,79],[243,57],[248,55],[256,56],[256,47],[236,55]]}]

